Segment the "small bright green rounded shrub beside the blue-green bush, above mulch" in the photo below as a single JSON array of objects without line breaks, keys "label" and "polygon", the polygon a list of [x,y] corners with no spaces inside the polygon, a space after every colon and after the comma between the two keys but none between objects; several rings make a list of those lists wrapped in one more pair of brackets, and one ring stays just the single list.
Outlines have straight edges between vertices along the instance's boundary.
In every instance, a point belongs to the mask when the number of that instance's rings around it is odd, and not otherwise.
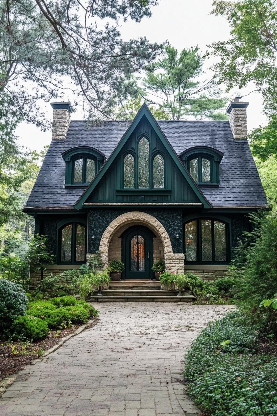
[{"label": "small bright green rounded shrub beside the blue-green bush, above mulch", "polygon": [[37,341],[49,332],[47,322],[34,316],[20,316],[12,324],[13,337]]}]

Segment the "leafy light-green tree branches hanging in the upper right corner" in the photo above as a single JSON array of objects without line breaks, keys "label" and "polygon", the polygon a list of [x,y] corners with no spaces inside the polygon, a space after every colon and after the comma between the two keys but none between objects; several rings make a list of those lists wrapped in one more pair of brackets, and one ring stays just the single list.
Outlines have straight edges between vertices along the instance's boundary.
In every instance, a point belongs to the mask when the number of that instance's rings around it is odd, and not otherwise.
[{"label": "leafy light-green tree branches hanging in the upper right corner", "polygon": [[227,91],[254,82],[262,92],[265,111],[277,111],[277,1],[239,0],[213,2],[212,13],[225,16],[229,22],[230,39],[214,42],[210,56],[220,61],[213,65],[219,82]]}]

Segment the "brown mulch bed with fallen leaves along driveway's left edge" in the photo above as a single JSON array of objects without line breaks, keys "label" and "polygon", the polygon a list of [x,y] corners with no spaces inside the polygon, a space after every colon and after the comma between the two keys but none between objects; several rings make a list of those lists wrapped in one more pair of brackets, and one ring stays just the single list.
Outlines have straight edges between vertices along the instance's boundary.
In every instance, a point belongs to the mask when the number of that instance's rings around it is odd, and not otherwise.
[{"label": "brown mulch bed with fallen leaves along driveway's left edge", "polygon": [[49,335],[38,342],[7,342],[0,340],[0,381],[5,377],[24,369],[34,359],[41,357],[47,349],[59,344],[61,338],[76,331],[81,325],[49,332]]}]

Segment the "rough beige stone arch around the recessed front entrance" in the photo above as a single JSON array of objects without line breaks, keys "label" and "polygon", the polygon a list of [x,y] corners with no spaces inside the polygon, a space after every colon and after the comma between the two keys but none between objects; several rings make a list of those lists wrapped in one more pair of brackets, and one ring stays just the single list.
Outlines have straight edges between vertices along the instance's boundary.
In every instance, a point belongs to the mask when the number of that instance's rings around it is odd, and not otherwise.
[{"label": "rough beige stone arch around the recessed front entrance", "polygon": [[99,252],[101,253],[104,267],[108,266],[109,245],[114,233],[116,233],[123,225],[129,224],[146,225],[150,230],[157,234],[163,244],[166,270],[178,270],[179,272],[184,272],[184,254],[173,253],[169,235],[162,223],[152,215],[140,211],[130,211],[119,215],[105,229],[99,245]]}]

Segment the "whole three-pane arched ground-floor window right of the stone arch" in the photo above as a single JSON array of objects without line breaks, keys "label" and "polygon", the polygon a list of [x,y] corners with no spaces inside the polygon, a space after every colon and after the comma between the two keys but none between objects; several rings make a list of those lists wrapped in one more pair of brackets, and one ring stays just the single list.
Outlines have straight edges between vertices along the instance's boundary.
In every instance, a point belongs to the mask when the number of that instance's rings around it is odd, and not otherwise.
[{"label": "whole three-pane arched ground-floor window right of the stone arch", "polygon": [[228,224],[211,218],[186,223],[185,254],[186,262],[228,262]]}]

